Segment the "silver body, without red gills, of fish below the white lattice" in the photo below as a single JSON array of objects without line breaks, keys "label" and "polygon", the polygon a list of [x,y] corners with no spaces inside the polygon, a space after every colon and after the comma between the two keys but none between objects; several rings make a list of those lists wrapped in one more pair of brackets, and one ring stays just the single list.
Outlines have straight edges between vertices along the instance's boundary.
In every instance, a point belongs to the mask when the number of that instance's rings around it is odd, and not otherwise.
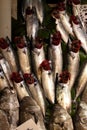
[{"label": "silver body, without red gills, of fish below the white lattice", "polygon": [[74,22],[72,22],[72,27],[77,39],[79,39],[82,43],[82,48],[87,54],[87,37],[82,26],[80,24],[75,24]]}]

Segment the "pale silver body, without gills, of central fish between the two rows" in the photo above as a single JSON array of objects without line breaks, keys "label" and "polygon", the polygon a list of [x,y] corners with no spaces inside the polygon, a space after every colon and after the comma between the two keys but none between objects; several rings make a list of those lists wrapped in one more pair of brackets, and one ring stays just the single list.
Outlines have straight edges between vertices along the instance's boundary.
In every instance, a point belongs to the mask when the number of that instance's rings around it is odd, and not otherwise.
[{"label": "pale silver body, without gills, of central fish between the two rows", "polygon": [[55,85],[53,81],[53,73],[51,70],[42,70],[41,72],[42,86],[44,89],[45,96],[51,102],[55,102]]}]

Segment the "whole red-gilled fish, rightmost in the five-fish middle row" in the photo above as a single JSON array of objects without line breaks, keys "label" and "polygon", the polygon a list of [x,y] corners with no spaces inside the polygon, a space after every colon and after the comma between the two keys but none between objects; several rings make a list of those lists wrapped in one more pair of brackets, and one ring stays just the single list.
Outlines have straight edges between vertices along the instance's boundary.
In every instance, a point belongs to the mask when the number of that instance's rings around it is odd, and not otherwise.
[{"label": "whole red-gilled fish, rightmost in the five-fish middle row", "polygon": [[70,90],[72,89],[79,72],[80,47],[81,47],[81,42],[79,40],[69,41],[69,45],[68,45],[69,49],[67,51],[67,70],[71,74],[70,81],[69,81]]}]

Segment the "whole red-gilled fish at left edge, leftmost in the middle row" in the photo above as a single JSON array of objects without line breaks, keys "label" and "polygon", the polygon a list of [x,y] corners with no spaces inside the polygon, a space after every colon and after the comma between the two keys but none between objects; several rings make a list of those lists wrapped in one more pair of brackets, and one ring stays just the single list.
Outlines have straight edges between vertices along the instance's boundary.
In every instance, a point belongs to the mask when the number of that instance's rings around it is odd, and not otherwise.
[{"label": "whole red-gilled fish at left edge, leftmost in the middle row", "polygon": [[16,72],[18,71],[17,67],[17,60],[14,55],[13,49],[11,47],[11,44],[7,42],[6,39],[0,38],[0,50],[7,62],[10,65],[11,71]]}]

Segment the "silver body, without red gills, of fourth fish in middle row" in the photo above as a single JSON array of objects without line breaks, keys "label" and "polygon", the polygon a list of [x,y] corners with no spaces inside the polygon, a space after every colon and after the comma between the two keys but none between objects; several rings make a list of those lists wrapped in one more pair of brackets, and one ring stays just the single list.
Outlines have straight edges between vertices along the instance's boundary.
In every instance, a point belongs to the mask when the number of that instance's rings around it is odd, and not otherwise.
[{"label": "silver body, without red gills, of fourth fish in middle row", "polygon": [[52,61],[53,78],[55,81],[56,74],[60,74],[63,68],[61,43],[59,45],[51,45],[49,48],[49,59]]}]

